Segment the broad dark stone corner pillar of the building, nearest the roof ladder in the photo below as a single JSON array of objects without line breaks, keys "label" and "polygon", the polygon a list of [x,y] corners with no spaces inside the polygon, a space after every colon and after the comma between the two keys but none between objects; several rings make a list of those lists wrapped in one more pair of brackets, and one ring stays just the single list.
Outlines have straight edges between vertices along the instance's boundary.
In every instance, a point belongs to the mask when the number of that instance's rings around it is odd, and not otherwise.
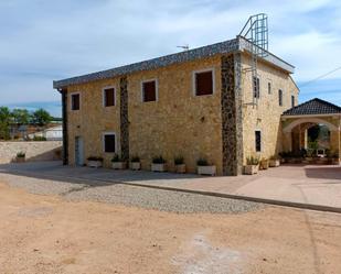
[{"label": "broad dark stone corner pillar of the building, nearest the roof ladder", "polygon": [[236,176],[243,169],[241,55],[223,56],[221,64],[223,174]]}]

